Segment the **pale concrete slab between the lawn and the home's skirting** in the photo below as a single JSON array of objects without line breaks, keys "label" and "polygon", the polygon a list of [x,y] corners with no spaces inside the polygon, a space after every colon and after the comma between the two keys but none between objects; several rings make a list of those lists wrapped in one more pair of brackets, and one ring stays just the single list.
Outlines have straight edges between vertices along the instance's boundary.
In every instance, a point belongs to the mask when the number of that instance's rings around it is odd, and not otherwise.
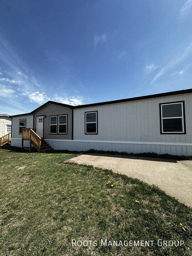
[{"label": "pale concrete slab between the lawn and the home's skirting", "polygon": [[170,196],[192,207],[192,161],[136,156],[85,154],[68,160],[111,169],[114,172],[154,184]]}]

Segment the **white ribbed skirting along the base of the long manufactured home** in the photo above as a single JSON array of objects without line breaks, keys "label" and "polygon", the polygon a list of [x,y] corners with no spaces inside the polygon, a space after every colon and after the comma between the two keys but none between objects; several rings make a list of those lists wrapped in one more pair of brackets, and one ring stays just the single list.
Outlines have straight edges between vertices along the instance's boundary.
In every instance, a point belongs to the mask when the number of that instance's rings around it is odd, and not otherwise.
[{"label": "white ribbed skirting along the base of the long manufactured home", "polygon": [[[89,149],[118,151],[127,153],[155,152],[158,154],[171,155],[192,155],[192,143],[174,142],[124,142],[124,141],[103,141],[103,140],[58,140],[45,139],[55,150],[86,151]],[[28,142],[24,141],[24,147]],[[21,139],[11,138],[11,146],[21,147]]]}]

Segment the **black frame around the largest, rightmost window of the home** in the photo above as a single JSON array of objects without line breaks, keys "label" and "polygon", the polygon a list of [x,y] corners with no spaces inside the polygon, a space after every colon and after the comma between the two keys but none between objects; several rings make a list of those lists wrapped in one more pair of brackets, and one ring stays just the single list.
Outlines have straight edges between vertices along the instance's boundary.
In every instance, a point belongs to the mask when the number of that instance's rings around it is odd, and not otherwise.
[{"label": "black frame around the largest, rightmost window of the home", "polygon": [[[181,104],[182,105],[182,117],[172,117],[170,119],[181,118],[182,119],[182,132],[163,132],[163,119],[169,119],[169,117],[162,117],[162,106],[169,105],[169,104]],[[185,123],[185,101],[172,101],[172,102],[164,102],[159,104],[159,111],[160,111],[160,133],[161,134],[186,134],[186,123]]]}]

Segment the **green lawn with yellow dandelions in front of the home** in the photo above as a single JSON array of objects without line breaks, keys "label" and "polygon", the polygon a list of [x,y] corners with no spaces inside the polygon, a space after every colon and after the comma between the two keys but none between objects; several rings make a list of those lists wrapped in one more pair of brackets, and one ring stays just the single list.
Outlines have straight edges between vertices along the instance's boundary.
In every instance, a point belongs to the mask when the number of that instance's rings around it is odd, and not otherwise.
[{"label": "green lawn with yellow dandelions in front of the home", "polygon": [[[0,255],[192,255],[191,208],[137,179],[64,162],[76,155],[0,148]],[[97,242],[72,246],[72,239]],[[105,246],[101,239],[154,242]]]}]

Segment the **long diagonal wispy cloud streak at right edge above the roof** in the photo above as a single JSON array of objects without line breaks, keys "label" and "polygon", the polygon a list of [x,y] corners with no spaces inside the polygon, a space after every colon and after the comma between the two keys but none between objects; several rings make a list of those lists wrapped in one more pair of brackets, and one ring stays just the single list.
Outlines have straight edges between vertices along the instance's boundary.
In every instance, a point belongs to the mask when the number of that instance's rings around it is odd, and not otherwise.
[{"label": "long diagonal wispy cloud streak at right edge above the roof", "polygon": [[[165,64],[159,71],[158,74],[155,75],[154,79],[151,81],[151,83],[155,82],[157,79],[159,79],[162,75],[166,74],[168,71],[170,71],[174,66],[179,64],[182,60],[187,58],[189,54],[192,52],[192,43],[184,50],[183,53],[181,53],[180,56],[177,56],[173,59],[171,59],[167,64]],[[189,64],[191,65],[191,64]]]}]

